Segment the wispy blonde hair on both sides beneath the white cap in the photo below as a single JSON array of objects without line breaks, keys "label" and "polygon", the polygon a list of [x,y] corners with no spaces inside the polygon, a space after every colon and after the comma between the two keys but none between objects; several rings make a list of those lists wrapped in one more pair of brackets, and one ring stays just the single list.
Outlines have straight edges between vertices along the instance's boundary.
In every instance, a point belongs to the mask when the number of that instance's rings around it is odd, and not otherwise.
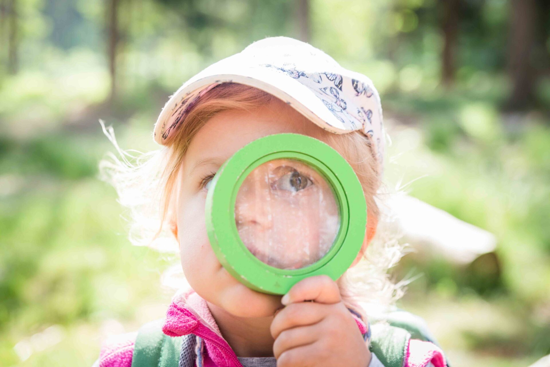
[{"label": "wispy blonde hair on both sides beneath the white cap", "polygon": [[[179,252],[172,230],[175,226],[174,189],[182,160],[191,140],[215,114],[230,109],[250,110],[275,100],[271,94],[255,87],[223,83],[208,91],[188,111],[180,128],[167,145],[156,151],[132,155],[118,146],[111,127],[103,131],[116,147],[121,159],[112,153],[100,162],[100,179],[117,190],[119,202],[129,209],[129,239],[134,245],[156,250]],[[184,128],[182,128],[184,127]],[[368,214],[377,218],[376,235],[359,263],[348,269],[337,281],[344,303],[365,316],[361,304],[391,305],[402,294],[400,283],[390,280],[388,270],[403,254],[398,235],[393,230],[383,205],[380,168],[371,140],[361,132],[333,134],[323,130],[323,139],[334,147],[353,167],[365,193]],[[370,222],[372,223],[372,221]],[[181,271],[180,265],[176,265]],[[173,268],[174,269],[174,268]],[[169,272],[173,273],[174,270]]]}]

